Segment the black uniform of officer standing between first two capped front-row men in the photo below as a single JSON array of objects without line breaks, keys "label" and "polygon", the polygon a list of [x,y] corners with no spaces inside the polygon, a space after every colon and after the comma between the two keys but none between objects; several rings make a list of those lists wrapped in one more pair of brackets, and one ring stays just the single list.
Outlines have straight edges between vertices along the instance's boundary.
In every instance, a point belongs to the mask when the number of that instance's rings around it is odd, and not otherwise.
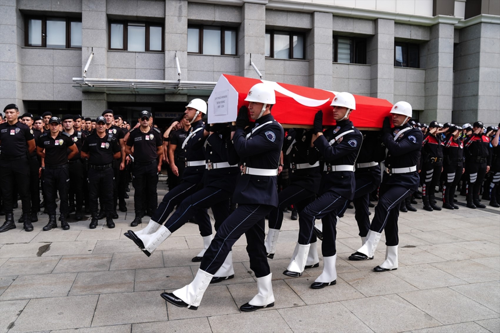
[{"label": "black uniform of officer standing between first two capped front-row men", "polygon": [[[80,156],[81,147],[86,138],[85,133],[82,131],[74,131],[69,135],[71,141],[76,144],[78,148],[78,153],[74,155],[69,161],[69,196],[75,198],[76,200],[76,213],[75,218],[77,220],[81,219],[81,208],[83,207],[83,180],[85,176],[85,164]],[[68,151],[69,153],[69,151]]]}]

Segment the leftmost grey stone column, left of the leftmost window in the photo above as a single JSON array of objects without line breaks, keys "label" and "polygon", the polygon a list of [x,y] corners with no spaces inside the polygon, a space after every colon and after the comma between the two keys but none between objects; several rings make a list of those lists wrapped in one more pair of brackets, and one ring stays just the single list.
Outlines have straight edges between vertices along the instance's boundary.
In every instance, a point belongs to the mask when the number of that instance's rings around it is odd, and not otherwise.
[{"label": "leftmost grey stone column, left of the leftmost window", "polygon": [[1,0],[0,12],[0,112],[15,103],[22,114],[20,46],[24,44],[24,24],[15,0]]}]

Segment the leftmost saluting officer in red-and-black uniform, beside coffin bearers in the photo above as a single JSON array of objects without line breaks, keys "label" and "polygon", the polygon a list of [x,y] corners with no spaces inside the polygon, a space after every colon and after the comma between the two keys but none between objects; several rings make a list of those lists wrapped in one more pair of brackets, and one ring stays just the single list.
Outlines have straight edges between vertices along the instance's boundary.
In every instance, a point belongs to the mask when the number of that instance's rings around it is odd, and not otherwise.
[{"label": "leftmost saluting officer in red-and-black uniform, beside coffin bearers", "polygon": [[434,203],[434,189],[442,171],[443,143],[440,134],[442,132],[442,125],[433,120],[422,141],[420,179],[422,181],[423,209],[428,211],[441,210],[441,207]]}]

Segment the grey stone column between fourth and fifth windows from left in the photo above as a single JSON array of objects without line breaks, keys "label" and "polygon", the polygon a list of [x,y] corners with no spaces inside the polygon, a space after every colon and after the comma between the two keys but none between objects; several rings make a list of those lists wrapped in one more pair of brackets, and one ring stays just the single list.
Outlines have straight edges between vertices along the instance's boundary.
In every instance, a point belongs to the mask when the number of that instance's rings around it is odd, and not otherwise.
[{"label": "grey stone column between fourth and fifth windows from left", "polygon": [[306,40],[306,56],[309,59],[309,86],[331,90],[333,15],[314,11],[312,24],[312,29]]}]

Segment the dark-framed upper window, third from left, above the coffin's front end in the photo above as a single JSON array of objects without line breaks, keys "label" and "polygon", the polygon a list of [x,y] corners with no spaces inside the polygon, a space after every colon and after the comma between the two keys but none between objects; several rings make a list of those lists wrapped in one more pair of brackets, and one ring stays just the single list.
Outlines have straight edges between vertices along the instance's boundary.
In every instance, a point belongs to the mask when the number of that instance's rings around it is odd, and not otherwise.
[{"label": "dark-framed upper window, third from left, above the coffin's front end", "polygon": [[187,52],[236,55],[236,28],[189,25],[187,27]]}]

